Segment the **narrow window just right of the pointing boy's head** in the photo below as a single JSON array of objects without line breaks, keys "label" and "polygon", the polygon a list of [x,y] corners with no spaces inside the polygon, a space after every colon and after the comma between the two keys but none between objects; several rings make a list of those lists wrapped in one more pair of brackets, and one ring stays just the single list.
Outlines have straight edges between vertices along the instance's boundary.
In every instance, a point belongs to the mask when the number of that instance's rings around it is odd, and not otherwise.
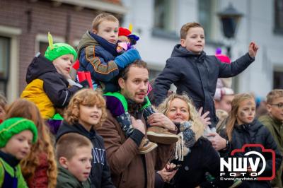
[{"label": "narrow window just right of the pointing boy's head", "polygon": [[212,0],[200,0],[199,2],[199,22],[204,28],[205,40],[212,39]]}]

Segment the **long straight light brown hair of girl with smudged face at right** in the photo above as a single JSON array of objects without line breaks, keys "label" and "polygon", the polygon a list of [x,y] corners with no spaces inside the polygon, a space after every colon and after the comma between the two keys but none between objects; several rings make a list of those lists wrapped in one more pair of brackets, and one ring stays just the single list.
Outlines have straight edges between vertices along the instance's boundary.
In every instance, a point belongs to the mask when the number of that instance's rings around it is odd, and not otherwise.
[{"label": "long straight light brown hair of girl with smudged face at right", "polygon": [[229,112],[229,117],[226,124],[226,134],[228,136],[229,141],[232,140],[232,132],[236,124],[238,108],[240,106],[240,103],[244,100],[255,100],[255,98],[253,98],[253,95],[250,95],[249,93],[241,93],[235,95],[235,98],[232,100],[232,108]]}]

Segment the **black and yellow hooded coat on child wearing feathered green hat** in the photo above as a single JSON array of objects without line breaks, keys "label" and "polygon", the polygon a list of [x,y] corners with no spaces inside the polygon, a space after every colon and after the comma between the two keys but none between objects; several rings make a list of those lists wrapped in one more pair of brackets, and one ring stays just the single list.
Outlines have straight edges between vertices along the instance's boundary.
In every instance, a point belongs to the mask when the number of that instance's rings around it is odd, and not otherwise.
[{"label": "black and yellow hooded coat on child wearing feathered green hat", "polygon": [[37,105],[43,119],[50,119],[55,114],[55,107],[64,108],[69,104],[71,96],[80,88],[69,87],[69,82],[59,74],[53,65],[42,55],[34,57],[28,66],[25,87],[21,98]]}]

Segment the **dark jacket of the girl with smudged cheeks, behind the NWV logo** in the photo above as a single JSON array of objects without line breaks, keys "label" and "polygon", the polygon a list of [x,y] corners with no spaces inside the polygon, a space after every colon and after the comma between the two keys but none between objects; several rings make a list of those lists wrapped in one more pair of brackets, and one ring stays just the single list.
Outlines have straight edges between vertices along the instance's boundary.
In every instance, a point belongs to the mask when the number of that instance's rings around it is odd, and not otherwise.
[{"label": "dark jacket of the girl with smudged cheeks, behind the NWV logo", "polygon": [[[221,136],[228,139],[225,132],[225,129],[221,131]],[[275,168],[276,170],[279,169],[279,166],[282,162],[282,155],[280,154],[275,140],[270,134],[270,131],[256,119],[251,124],[235,125],[232,132],[232,140],[229,149],[226,151],[221,151],[221,156],[226,157],[231,153],[231,151],[233,151],[234,149],[241,149],[243,145],[247,143],[258,143],[261,144],[265,149],[272,149],[273,151],[275,151]],[[234,156],[243,157],[243,155],[245,153],[248,153],[249,151],[258,151],[264,156],[266,160],[266,168],[262,175],[270,177],[272,173],[272,156],[269,155],[269,153],[262,152],[262,149],[260,147],[248,147],[246,148],[245,152],[236,152]],[[258,169],[261,170],[261,168],[262,164],[260,163]],[[243,181],[243,184],[241,184],[240,187],[259,188],[271,187],[271,185],[269,181]]]}]

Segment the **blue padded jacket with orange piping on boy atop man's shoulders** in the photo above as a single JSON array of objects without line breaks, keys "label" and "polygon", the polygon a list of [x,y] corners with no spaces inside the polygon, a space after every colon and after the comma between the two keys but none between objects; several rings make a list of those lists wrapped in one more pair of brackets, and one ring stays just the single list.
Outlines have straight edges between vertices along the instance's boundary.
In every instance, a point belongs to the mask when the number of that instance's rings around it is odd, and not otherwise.
[{"label": "blue padded jacket with orange piping on boy atop man's shoulders", "polygon": [[78,46],[80,66],[78,71],[90,71],[93,83],[107,84],[108,91],[118,90],[115,87],[119,69],[115,61],[116,47],[107,40],[87,31],[83,34]]}]

